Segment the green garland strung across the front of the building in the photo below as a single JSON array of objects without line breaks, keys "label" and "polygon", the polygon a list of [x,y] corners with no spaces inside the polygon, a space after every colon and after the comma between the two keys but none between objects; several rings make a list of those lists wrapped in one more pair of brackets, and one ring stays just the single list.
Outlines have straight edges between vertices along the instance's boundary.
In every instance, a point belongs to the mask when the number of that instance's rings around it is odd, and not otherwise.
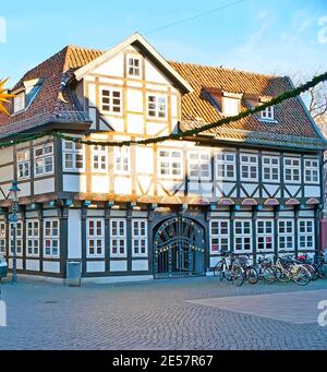
[{"label": "green garland strung across the front of the building", "polygon": [[58,131],[45,131],[45,132],[40,132],[40,133],[35,133],[32,135],[26,135],[24,137],[21,137],[20,140],[13,140],[13,141],[9,141],[9,142],[2,142],[0,143],[0,148],[4,148],[4,147],[9,147],[12,145],[17,145],[24,142],[28,142],[28,141],[34,141],[34,140],[38,140],[40,137],[44,136],[53,136],[57,139],[61,139],[61,140],[65,140],[65,141],[71,141],[74,143],[80,143],[80,144],[84,144],[84,145],[89,145],[89,146],[117,146],[117,147],[123,147],[123,146],[131,146],[131,145],[149,145],[149,144],[156,144],[159,142],[165,142],[165,141],[175,141],[175,140],[183,140],[185,137],[190,137],[190,136],[195,136],[197,134],[201,134],[205,131],[208,131],[210,129],[215,129],[217,127],[223,125],[223,124],[229,124],[231,122],[235,122],[239,121],[241,119],[244,119],[251,115],[254,115],[256,112],[261,112],[263,110],[265,110],[266,108],[270,107],[270,106],[276,106],[279,105],[281,103],[283,103],[287,99],[291,99],[291,98],[295,98],[298,97],[300,94],[305,93],[306,91],[308,91],[310,88],[316,86],[317,84],[324,82],[327,80],[327,72],[318,75],[318,76],[314,76],[311,81],[306,82],[305,84],[300,85],[299,87],[292,89],[292,91],[288,91],[282,93],[281,95],[268,100],[267,103],[256,106],[256,107],[252,107],[247,110],[244,110],[242,112],[240,112],[237,116],[233,117],[228,117],[228,118],[223,118],[221,120],[218,120],[214,123],[209,123],[209,124],[205,124],[198,128],[194,128],[192,130],[187,130],[187,131],[183,131],[183,132],[179,132],[179,133],[171,133],[169,135],[162,135],[162,136],[157,136],[157,137],[149,137],[146,140],[129,140],[129,141],[92,141],[92,140],[83,140],[81,137],[76,137],[76,136],[72,136],[72,135],[68,135],[64,134],[62,132],[58,132]]}]

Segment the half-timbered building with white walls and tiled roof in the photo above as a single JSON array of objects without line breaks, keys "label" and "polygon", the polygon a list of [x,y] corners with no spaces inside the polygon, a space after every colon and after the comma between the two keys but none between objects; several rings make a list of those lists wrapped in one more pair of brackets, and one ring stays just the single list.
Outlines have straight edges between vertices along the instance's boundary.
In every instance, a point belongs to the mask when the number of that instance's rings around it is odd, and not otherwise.
[{"label": "half-timbered building with white walls and tiled roof", "polygon": [[[278,255],[320,249],[324,139],[301,98],[183,141],[179,133],[259,105],[288,77],[166,61],[142,36],[109,51],[69,46],[14,86],[0,141],[0,254],[12,265],[5,194],[19,181],[19,272],[109,280],[206,275],[221,249]],[[1,146],[1,143],[0,143]]]}]

